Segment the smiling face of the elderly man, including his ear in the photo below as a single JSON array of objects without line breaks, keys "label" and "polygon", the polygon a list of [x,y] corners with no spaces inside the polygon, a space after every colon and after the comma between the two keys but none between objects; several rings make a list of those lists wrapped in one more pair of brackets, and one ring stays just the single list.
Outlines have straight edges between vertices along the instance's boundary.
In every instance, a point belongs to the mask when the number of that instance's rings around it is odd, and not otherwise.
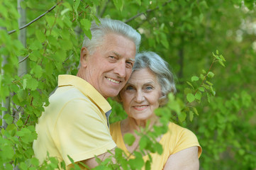
[{"label": "smiling face of the elderly man, including his ear", "polygon": [[[84,53],[86,55],[82,56]],[[108,34],[92,55],[85,47],[82,48],[81,77],[104,98],[117,96],[128,81],[134,62],[134,42],[122,35]]]}]

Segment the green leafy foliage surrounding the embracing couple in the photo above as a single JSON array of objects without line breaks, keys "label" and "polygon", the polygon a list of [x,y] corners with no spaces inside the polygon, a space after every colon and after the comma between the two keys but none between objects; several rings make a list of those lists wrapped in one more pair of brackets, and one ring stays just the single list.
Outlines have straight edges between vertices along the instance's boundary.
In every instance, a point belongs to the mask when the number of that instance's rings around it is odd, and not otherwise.
[{"label": "green leafy foliage surrounding the embracing couple", "polygon": [[[54,158],[39,165],[33,157],[34,126],[57,86],[57,75],[77,74],[82,39],[91,36],[91,21],[99,17],[133,26],[142,35],[140,51],[157,52],[171,65],[178,91],[157,114],[163,123],[172,120],[196,134],[203,148],[200,169],[256,169],[255,0],[25,0],[21,6],[26,23],[46,13],[26,27],[23,47],[17,1],[0,0],[0,169],[58,167]],[[28,67],[22,76],[20,56]],[[108,101],[111,122],[126,118],[120,103]],[[117,149],[113,157],[118,166],[106,159],[96,169],[142,167],[145,149],[161,153],[155,136],[166,129],[154,129],[141,133],[135,159],[127,161],[129,156],[121,157],[123,151]]]}]

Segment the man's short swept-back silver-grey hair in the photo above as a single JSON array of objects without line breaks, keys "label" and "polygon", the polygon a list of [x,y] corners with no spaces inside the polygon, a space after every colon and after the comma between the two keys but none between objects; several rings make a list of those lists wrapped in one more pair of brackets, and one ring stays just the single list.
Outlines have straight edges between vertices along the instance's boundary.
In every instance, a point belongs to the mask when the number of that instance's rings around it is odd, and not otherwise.
[{"label": "man's short swept-back silver-grey hair", "polygon": [[136,52],[138,52],[141,36],[135,29],[118,20],[99,18],[99,21],[101,21],[99,26],[95,21],[91,23],[91,40],[87,36],[84,37],[82,46],[87,47],[90,55],[94,53],[96,47],[101,45],[104,36],[108,33],[123,35],[125,38],[132,40],[135,43]]}]

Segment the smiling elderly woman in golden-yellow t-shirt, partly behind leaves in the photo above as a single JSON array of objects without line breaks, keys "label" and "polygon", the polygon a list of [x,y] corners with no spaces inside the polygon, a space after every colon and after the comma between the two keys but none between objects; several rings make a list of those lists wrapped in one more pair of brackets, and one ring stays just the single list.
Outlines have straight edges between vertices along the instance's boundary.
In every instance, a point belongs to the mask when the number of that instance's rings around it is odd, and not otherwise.
[{"label": "smiling elderly woman in golden-yellow t-shirt, partly behind leaves", "polygon": [[[135,130],[159,123],[154,111],[167,103],[167,96],[175,92],[172,72],[168,64],[155,52],[143,52],[136,56],[133,73],[126,86],[118,94],[118,100],[128,118],[113,123],[110,127],[111,135],[116,145],[126,153],[133,152],[138,146],[140,136]],[[163,134],[157,142],[163,147],[161,155],[151,154],[151,169],[199,169],[201,147],[193,132],[174,123],[169,123],[168,132]],[[128,146],[123,142],[123,136],[132,133],[135,142]]]}]

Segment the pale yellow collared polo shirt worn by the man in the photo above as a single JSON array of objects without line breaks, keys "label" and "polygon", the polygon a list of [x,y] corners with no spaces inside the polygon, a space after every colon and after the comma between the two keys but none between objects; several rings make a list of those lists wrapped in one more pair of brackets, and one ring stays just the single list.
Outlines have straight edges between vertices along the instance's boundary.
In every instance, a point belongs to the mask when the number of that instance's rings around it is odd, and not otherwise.
[{"label": "pale yellow collared polo shirt worn by the man", "polygon": [[67,155],[79,162],[116,147],[105,115],[111,106],[87,81],[60,75],[58,88],[49,101],[35,126],[38,139],[33,149],[40,163],[47,152],[68,166],[71,162]]}]

